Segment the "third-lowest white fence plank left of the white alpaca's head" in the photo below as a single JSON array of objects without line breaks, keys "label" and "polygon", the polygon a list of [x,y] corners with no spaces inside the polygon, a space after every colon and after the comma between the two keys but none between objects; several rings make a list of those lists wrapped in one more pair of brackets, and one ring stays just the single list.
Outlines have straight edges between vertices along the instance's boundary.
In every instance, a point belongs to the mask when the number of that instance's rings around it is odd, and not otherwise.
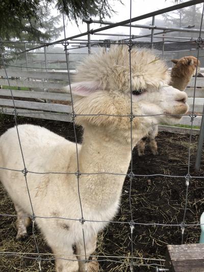
[{"label": "third-lowest white fence plank left of the white alpaca's head", "polygon": [[[49,99],[59,101],[70,101],[70,93],[52,93],[52,92],[36,92],[36,91],[19,91],[12,90],[14,97],[35,98],[35,99]],[[11,91],[7,89],[0,89],[0,96],[10,96]]]}]

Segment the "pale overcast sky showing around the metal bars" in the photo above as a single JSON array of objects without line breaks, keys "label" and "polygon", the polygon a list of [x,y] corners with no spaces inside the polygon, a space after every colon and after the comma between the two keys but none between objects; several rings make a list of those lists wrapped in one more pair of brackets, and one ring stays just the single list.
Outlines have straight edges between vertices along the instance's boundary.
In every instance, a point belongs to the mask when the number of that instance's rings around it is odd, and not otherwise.
[{"label": "pale overcast sky showing around the metal bars", "polygon": [[[113,16],[111,18],[107,17],[104,20],[118,22],[118,21],[122,21],[125,19],[129,19],[130,18],[130,0],[122,0],[122,2],[124,5],[120,4],[116,0],[110,0],[109,3],[112,5],[113,9],[115,11],[117,11],[117,13],[113,14]],[[160,9],[172,6],[172,5],[174,5],[172,0],[166,0],[166,1],[165,0],[155,0],[155,1],[153,1],[153,0],[132,0],[132,17],[136,17],[136,16],[146,14],[146,13],[149,13],[152,11],[160,10]],[[162,18],[161,15],[158,15],[156,17]],[[92,18],[92,19],[94,19],[94,18]],[[98,19],[98,18],[95,18],[95,19]],[[145,24],[145,22],[149,19],[140,20],[135,23]],[[92,23],[90,26],[91,29],[96,29],[99,27],[100,27],[99,24],[94,24],[94,23]],[[79,28],[77,27],[77,25],[75,23],[71,23],[71,22],[68,22],[66,25],[66,37],[77,35],[77,34],[80,34],[80,33],[86,32],[86,31],[87,31],[87,24],[86,23],[79,22]],[[139,28],[132,29],[132,34],[134,34],[134,35],[138,35],[139,32],[140,32]],[[127,27],[117,27],[114,29],[103,31],[101,33],[129,34],[130,30]],[[98,39],[106,39],[107,37],[108,36],[91,35],[91,39],[97,39],[97,40]],[[63,38],[64,38],[64,36],[62,34],[60,39],[63,39]],[[86,39],[86,38],[87,38],[87,36],[83,37],[83,39]]]}]

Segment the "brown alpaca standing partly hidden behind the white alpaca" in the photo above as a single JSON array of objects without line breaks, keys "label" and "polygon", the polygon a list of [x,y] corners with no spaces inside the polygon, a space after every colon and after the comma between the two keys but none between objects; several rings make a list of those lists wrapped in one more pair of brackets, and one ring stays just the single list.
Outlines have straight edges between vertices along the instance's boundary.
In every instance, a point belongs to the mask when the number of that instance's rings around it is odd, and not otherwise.
[{"label": "brown alpaca standing partly hidden behind the white alpaca", "polygon": [[[193,56],[183,57],[179,60],[171,60],[175,63],[175,66],[171,70],[171,82],[169,85],[172,87],[183,91],[188,86],[189,81],[196,73],[196,66],[198,65],[197,72],[199,71],[200,62],[197,58]],[[146,139],[149,138],[150,149],[153,155],[158,154],[157,141],[155,137],[158,135],[158,126],[153,126],[148,132],[147,137],[142,138],[138,142],[138,155],[144,155],[144,149],[146,144]]]}]

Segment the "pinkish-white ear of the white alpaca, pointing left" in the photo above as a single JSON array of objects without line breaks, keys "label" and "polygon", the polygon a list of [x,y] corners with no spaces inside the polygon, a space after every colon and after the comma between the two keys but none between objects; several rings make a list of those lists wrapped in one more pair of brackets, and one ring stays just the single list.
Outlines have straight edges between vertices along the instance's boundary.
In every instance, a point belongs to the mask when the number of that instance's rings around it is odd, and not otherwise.
[{"label": "pinkish-white ear of the white alpaca, pointing left", "polygon": [[[71,93],[79,96],[89,96],[94,91],[100,89],[98,81],[82,81],[71,84]],[[69,85],[63,88],[66,92],[70,92]]]}]

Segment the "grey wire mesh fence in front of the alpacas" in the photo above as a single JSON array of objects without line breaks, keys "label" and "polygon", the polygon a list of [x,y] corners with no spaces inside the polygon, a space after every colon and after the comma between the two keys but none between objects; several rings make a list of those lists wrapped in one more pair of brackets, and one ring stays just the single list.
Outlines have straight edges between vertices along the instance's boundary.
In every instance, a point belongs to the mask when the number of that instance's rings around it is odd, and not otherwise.
[{"label": "grey wire mesh fence in front of the alpacas", "polygon": [[[192,1],[190,1],[192,2]],[[197,3],[200,3],[201,1],[197,1]],[[132,3],[130,1],[130,3]],[[191,3],[192,4],[192,3]],[[194,3],[193,3],[194,4]],[[183,6],[181,6],[183,7]],[[175,7],[174,7],[175,9]],[[172,10],[172,9],[171,9]],[[204,5],[203,5],[203,9],[202,9],[202,18],[201,18],[201,23],[200,23],[200,31],[199,31],[199,35],[198,38],[194,40],[194,42],[197,44],[197,59],[199,59],[199,50],[200,50],[200,46],[203,43],[203,40],[201,38],[201,31],[202,31],[202,20],[203,20],[203,11],[204,11]],[[99,258],[98,261],[102,262],[102,261],[107,261],[107,262],[115,262],[115,263],[124,263],[124,259],[127,261],[126,266],[130,268],[131,271],[133,271],[137,266],[148,266],[148,267],[164,267],[164,259],[163,258],[141,258],[141,257],[136,257],[134,256],[134,247],[135,247],[135,243],[134,243],[134,228],[136,226],[152,226],[152,227],[156,227],[156,226],[160,226],[160,227],[179,227],[181,229],[181,242],[184,242],[184,234],[185,231],[188,227],[198,227],[200,226],[199,222],[195,222],[194,224],[188,224],[186,222],[186,211],[187,211],[187,207],[188,207],[188,193],[189,193],[189,184],[191,183],[192,179],[204,179],[204,176],[191,176],[190,173],[190,160],[191,160],[191,144],[192,144],[192,129],[193,129],[193,121],[194,118],[196,118],[197,116],[202,116],[202,114],[195,114],[194,112],[194,104],[195,104],[195,88],[196,88],[196,76],[195,76],[195,85],[194,85],[194,98],[193,98],[193,110],[191,114],[181,114],[179,116],[190,116],[191,117],[191,134],[190,134],[190,139],[189,139],[189,150],[188,150],[188,171],[186,172],[186,175],[165,175],[165,174],[160,174],[160,173],[156,173],[156,174],[152,174],[152,175],[138,175],[136,173],[134,173],[134,169],[133,169],[133,158],[132,158],[132,151],[133,151],[133,129],[132,129],[132,122],[134,120],[134,118],[136,117],[148,117],[148,116],[159,116],[159,115],[173,115],[173,114],[155,114],[155,115],[137,115],[134,114],[133,112],[133,101],[132,101],[132,64],[131,64],[131,51],[132,48],[134,46],[134,42],[132,40],[132,7],[130,5],[130,19],[128,22],[130,22],[130,37],[129,40],[127,40],[127,42],[125,41],[126,44],[126,48],[127,51],[129,51],[129,62],[130,62],[130,87],[131,87],[131,112],[128,115],[112,115],[112,114],[104,114],[104,113],[100,113],[100,114],[76,114],[74,112],[74,103],[73,103],[73,98],[72,98],[72,88],[71,88],[71,84],[70,84],[70,72],[69,72],[69,49],[68,44],[70,42],[68,42],[68,40],[70,40],[73,37],[66,37],[65,34],[65,21],[64,21],[64,12],[62,12],[63,14],[63,26],[64,26],[64,39],[57,41],[56,43],[61,43],[64,46],[64,54],[66,57],[66,65],[67,65],[67,76],[68,76],[68,82],[69,82],[69,88],[70,88],[70,95],[71,95],[71,108],[72,108],[72,112],[70,114],[62,114],[62,113],[53,113],[53,114],[59,114],[59,115],[67,115],[70,116],[72,118],[72,123],[73,123],[73,131],[74,131],[74,139],[75,139],[75,149],[76,149],[76,164],[77,164],[77,169],[75,172],[61,172],[61,171],[46,171],[46,172],[37,172],[37,171],[33,171],[32,169],[27,168],[26,165],[26,161],[24,159],[24,155],[23,155],[23,150],[21,147],[21,139],[19,136],[19,132],[18,132],[18,123],[17,123],[17,116],[18,113],[20,112],[20,110],[17,110],[15,107],[15,101],[14,101],[14,96],[12,93],[12,88],[10,85],[10,80],[9,77],[7,75],[7,68],[4,62],[4,56],[3,56],[3,44],[4,41],[1,41],[1,54],[2,54],[2,65],[5,69],[5,73],[6,73],[6,78],[8,80],[8,85],[11,91],[11,96],[12,96],[12,101],[13,101],[13,107],[14,107],[14,111],[12,111],[12,115],[14,117],[14,123],[15,123],[15,127],[16,127],[16,131],[17,131],[17,137],[18,137],[18,141],[19,141],[19,146],[20,146],[20,152],[21,152],[21,157],[22,157],[22,161],[23,161],[23,169],[13,169],[13,168],[6,168],[6,167],[0,167],[0,169],[2,170],[7,170],[7,171],[14,171],[14,172],[20,172],[22,173],[22,175],[24,176],[24,180],[25,180],[25,184],[27,186],[27,190],[28,190],[28,195],[29,195],[29,200],[30,200],[30,205],[31,205],[31,209],[32,209],[32,214],[30,216],[25,216],[25,215],[14,215],[14,214],[0,214],[1,217],[29,217],[32,220],[32,234],[33,234],[33,238],[34,238],[34,242],[35,242],[35,246],[36,246],[36,253],[29,253],[29,252],[9,252],[9,251],[5,251],[5,252],[0,252],[1,255],[7,255],[8,257],[10,256],[18,256],[20,258],[26,258],[26,259],[31,259],[34,260],[38,263],[38,268],[39,271],[41,271],[41,262],[42,261],[52,261],[52,260],[67,260],[67,261],[80,261],[84,264],[85,266],[85,270],[87,269],[88,271],[88,263],[90,262],[95,262],[94,258]],[[141,17],[141,16],[140,16]],[[144,16],[143,16],[144,17]],[[142,18],[143,18],[142,17]],[[134,20],[133,20],[134,21]],[[123,21],[120,24],[125,24],[127,23],[127,21]],[[113,25],[114,26],[114,25]],[[108,27],[108,28],[112,28]],[[108,29],[107,27],[102,28],[102,29]],[[90,31],[91,34],[97,32],[97,31],[101,31],[96,29],[94,31]],[[83,33],[78,35],[83,36],[86,35],[88,33]],[[162,41],[162,43],[167,43],[167,42],[172,42],[171,40],[165,40]],[[184,43],[186,41],[176,41],[176,43]],[[55,42],[54,42],[55,43]],[[43,43],[43,45],[40,45],[40,47],[43,46],[48,46],[48,45],[52,45],[54,43]],[[77,43],[77,42],[74,42]],[[90,42],[92,43],[92,42]],[[161,43],[161,41],[159,42],[151,42],[152,44],[156,44],[156,43]],[[97,44],[100,44],[100,42],[97,42]],[[110,45],[112,44],[112,42],[107,42],[106,44]],[[120,44],[120,42],[118,43]],[[124,42],[121,42],[121,44],[124,44]],[[137,44],[145,44],[144,42],[137,42]],[[34,47],[34,49],[38,48]],[[29,52],[30,50],[27,50],[27,52]],[[198,67],[196,66],[196,75],[197,75],[197,69]],[[78,138],[77,138],[77,133],[76,133],[76,124],[75,124],[75,118],[77,116],[113,116],[113,117],[128,117],[130,119],[130,123],[131,123],[131,141],[130,141],[130,150],[131,150],[131,164],[130,164],[130,168],[129,171],[127,173],[117,173],[117,172],[90,172],[90,173],[86,173],[86,172],[82,172],[80,169],[80,163],[79,163],[79,148],[78,148]],[[178,114],[177,114],[178,115]],[[176,116],[177,116],[176,115]],[[1,165],[0,165],[1,166]],[[77,218],[68,218],[68,217],[60,217],[60,216],[47,216],[46,214],[44,216],[39,216],[38,214],[35,213],[35,210],[33,209],[33,205],[32,205],[32,197],[30,195],[30,191],[29,191],[29,186],[28,186],[28,174],[36,174],[38,175],[73,175],[75,176],[75,180],[77,182],[77,187],[78,187],[78,196],[79,196],[79,203],[80,203],[80,210],[81,213],[79,214],[79,216]],[[115,220],[92,220],[91,218],[86,218],[84,217],[84,213],[83,213],[83,203],[81,201],[81,193],[80,193],[80,179],[82,176],[92,176],[92,175],[110,175],[110,176],[123,176],[124,178],[127,177],[129,178],[130,181],[130,188],[129,188],[129,206],[130,206],[130,219],[127,221],[115,221]],[[36,177],[37,177],[36,176]],[[133,216],[133,212],[132,212],[132,184],[133,182],[135,182],[134,178],[136,177],[144,177],[144,178],[149,178],[149,177],[156,177],[156,176],[160,176],[160,177],[164,177],[164,178],[183,178],[185,181],[185,187],[186,187],[186,194],[185,194],[185,208],[184,208],[184,214],[183,214],[183,220],[181,222],[178,222],[177,224],[163,224],[162,222],[138,222],[137,218],[134,218]],[[62,254],[63,257],[60,257],[59,254],[42,254],[39,251],[39,244],[36,238],[36,233],[35,233],[35,221],[37,218],[40,219],[62,219],[62,220],[70,220],[70,221],[78,221],[79,224],[81,225],[81,232],[82,232],[82,237],[83,237],[83,250],[84,253],[83,254],[75,254],[74,256],[78,256],[78,257],[82,257],[82,258],[78,258],[73,260],[72,255],[66,255],[66,254]],[[85,232],[84,232],[84,224],[86,224],[87,222],[91,222],[91,223],[112,223],[112,224],[121,224],[121,225],[127,225],[130,229],[129,229],[129,238],[130,238],[130,242],[131,242],[131,251],[129,256],[117,256],[117,255],[113,255],[113,256],[103,256],[103,255],[90,255],[88,254],[87,256],[87,252],[86,252],[86,237],[85,237]],[[89,259],[89,257],[93,257],[93,259]],[[101,258],[101,259],[100,259]],[[138,263],[137,260],[142,260],[143,263]]]}]

